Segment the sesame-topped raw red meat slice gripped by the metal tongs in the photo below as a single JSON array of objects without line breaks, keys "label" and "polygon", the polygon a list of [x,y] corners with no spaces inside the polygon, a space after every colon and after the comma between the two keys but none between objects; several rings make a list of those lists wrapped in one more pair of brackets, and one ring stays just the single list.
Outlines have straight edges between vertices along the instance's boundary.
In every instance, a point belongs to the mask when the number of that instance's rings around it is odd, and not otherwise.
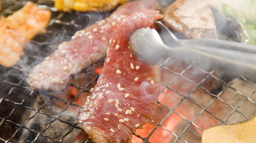
[{"label": "sesame-topped raw red meat slice gripped by the metal tongs", "polygon": [[125,143],[154,114],[160,94],[159,67],[132,56],[131,34],[154,27],[156,10],[138,11],[116,25],[102,73],[80,109],[78,123],[96,143]]}]

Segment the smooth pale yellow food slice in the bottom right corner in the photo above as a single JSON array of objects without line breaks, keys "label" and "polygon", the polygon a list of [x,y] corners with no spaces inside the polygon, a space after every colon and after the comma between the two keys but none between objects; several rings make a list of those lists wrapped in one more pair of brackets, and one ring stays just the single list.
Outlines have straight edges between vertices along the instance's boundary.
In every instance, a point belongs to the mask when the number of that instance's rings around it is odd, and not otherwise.
[{"label": "smooth pale yellow food slice in the bottom right corner", "polygon": [[202,143],[255,143],[256,116],[250,120],[206,129]]}]

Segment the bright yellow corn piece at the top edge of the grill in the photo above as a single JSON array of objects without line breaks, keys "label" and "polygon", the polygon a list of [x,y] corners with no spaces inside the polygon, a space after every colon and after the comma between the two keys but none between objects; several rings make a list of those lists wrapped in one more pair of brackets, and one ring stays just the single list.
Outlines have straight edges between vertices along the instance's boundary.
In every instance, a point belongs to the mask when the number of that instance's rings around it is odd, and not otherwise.
[{"label": "bright yellow corn piece at the top edge of the grill", "polygon": [[60,11],[76,10],[81,12],[104,12],[129,0],[54,0],[54,6]]}]

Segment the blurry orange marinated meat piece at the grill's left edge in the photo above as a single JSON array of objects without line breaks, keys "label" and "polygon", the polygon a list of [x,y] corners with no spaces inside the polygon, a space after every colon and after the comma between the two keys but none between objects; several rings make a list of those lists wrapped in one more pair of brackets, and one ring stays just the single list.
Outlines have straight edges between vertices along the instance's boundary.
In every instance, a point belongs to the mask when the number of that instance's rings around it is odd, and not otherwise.
[{"label": "blurry orange marinated meat piece at the grill's left edge", "polygon": [[13,66],[23,53],[23,45],[48,25],[51,12],[28,2],[22,9],[0,20],[0,64]]}]

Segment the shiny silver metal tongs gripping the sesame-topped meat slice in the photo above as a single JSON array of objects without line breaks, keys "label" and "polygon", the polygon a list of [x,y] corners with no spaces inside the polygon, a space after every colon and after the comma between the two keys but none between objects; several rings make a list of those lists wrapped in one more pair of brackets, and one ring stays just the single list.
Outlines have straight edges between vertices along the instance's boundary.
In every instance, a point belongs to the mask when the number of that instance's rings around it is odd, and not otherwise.
[{"label": "shiny silver metal tongs gripping the sesame-topped meat slice", "polygon": [[156,22],[156,26],[159,32],[147,27],[130,37],[131,52],[138,60],[156,65],[161,56],[171,54],[203,70],[256,79],[256,46],[209,38],[178,39],[161,22]]}]

